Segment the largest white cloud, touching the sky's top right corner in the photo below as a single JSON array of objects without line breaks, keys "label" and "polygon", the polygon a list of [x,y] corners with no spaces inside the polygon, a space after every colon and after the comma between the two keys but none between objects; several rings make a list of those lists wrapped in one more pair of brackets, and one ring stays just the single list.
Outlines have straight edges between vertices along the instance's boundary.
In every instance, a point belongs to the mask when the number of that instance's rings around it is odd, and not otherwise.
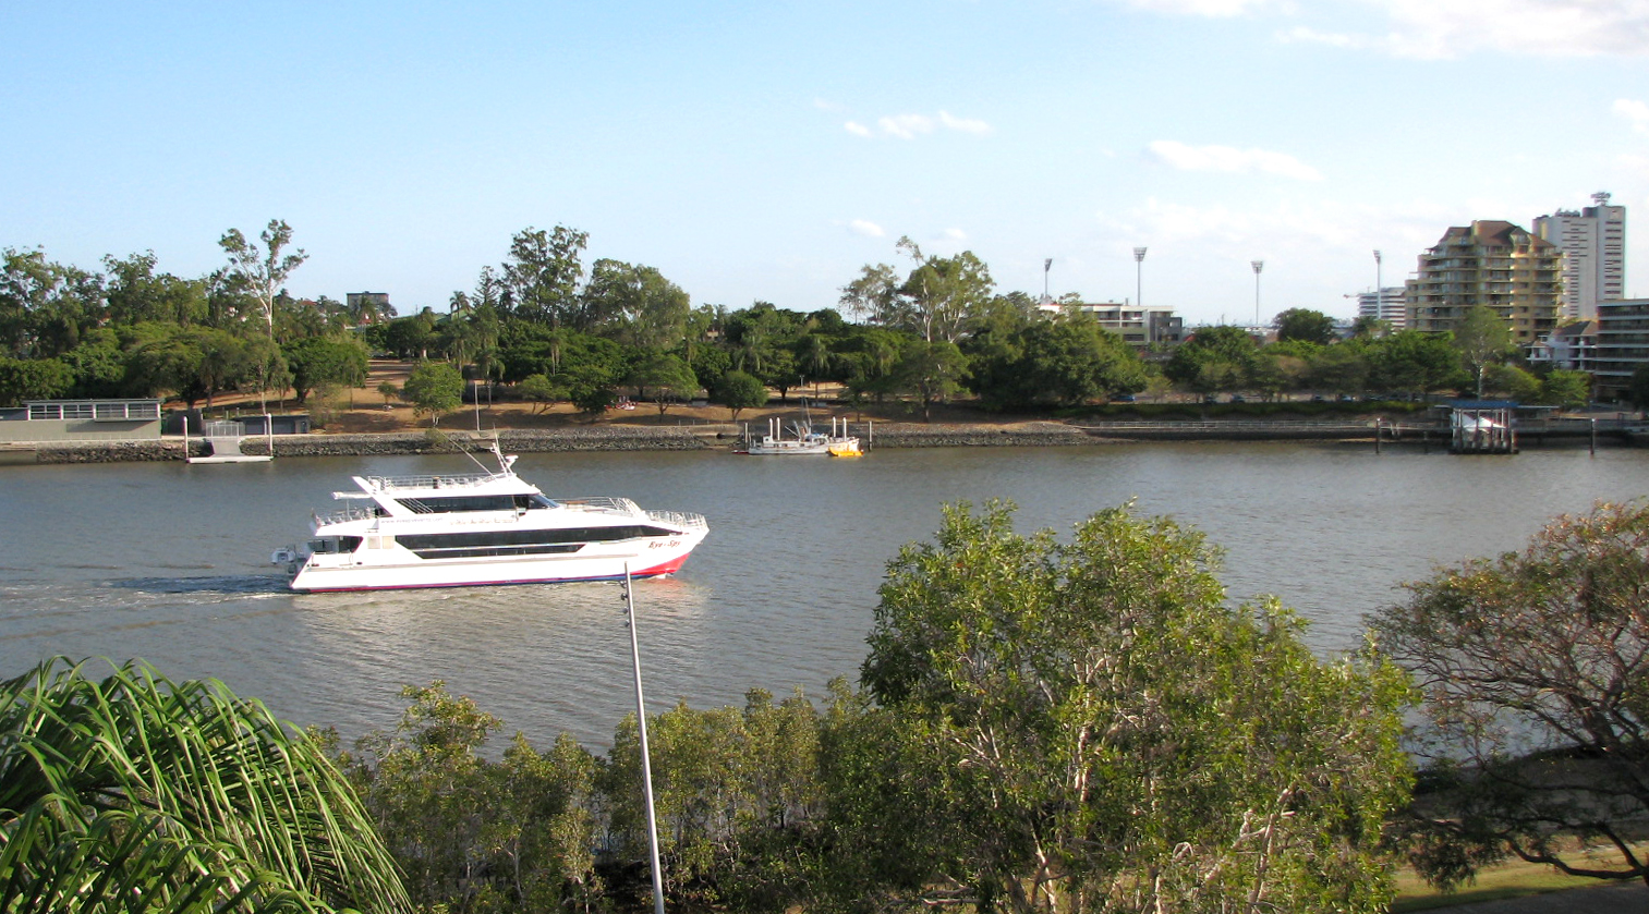
[{"label": "largest white cloud, touching the sky's top right corner", "polygon": [[1372,48],[1400,58],[1497,51],[1539,58],[1649,54],[1649,0],[1362,0],[1384,35],[1294,26],[1283,41]]}]

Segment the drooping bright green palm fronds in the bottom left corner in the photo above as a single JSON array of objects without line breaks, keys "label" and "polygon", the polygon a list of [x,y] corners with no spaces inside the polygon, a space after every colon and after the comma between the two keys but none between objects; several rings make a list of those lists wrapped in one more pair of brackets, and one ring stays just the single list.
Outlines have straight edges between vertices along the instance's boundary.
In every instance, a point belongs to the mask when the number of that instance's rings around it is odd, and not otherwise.
[{"label": "drooping bright green palm fronds in the bottom left corner", "polygon": [[318,743],[216,680],[89,664],[0,683],[0,911],[412,909]]}]

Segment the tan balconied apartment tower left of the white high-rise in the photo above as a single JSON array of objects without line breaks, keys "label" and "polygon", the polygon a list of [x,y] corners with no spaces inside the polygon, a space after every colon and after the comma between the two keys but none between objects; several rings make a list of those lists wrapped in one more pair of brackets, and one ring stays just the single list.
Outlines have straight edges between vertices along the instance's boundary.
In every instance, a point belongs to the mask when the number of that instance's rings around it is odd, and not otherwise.
[{"label": "tan balconied apartment tower left of the white high-rise", "polygon": [[1514,343],[1534,346],[1557,329],[1562,262],[1557,245],[1510,222],[1454,226],[1420,255],[1405,287],[1408,328],[1451,331],[1484,305],[1507,319]]}]

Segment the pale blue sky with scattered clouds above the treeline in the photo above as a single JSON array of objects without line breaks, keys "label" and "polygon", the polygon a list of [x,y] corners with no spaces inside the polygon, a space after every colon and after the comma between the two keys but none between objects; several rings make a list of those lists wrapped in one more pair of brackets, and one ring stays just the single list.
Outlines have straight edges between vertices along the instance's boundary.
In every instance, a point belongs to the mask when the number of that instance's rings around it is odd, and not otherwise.
[{"label": "pale blue sky with scattered clouds above the treeline", "polygon": [[445,311],[567,226],[813,311],[910,237],[998,291],[1349,319],[1449,226],[1606,191],[1649,296],[1649,0],[7,0],[0,41],[0,249],[89,270],[282,219],[292,295]]}]

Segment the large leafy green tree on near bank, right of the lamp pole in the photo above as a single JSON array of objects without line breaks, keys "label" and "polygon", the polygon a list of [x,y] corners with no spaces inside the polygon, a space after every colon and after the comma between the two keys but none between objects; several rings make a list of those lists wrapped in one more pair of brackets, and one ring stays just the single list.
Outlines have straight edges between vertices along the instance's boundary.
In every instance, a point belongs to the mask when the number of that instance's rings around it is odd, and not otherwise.
[{"label": "large leafy green tree on near bank, right of the lamp pole", "polygon": [[882,754],[918,764],[897,790],[862,779],[856,809],[925,833],[862,837],[905,858],[879,888],[1016,912],[1385,911],[1408,680],[1316,659],[1273,599],[1229,604],[1217,568],[1200,534],[1128,507],[1069,543],[1014,534],[1006,506],[948,507],[937,542],[902,548],[861,682],[897,734]]}]

